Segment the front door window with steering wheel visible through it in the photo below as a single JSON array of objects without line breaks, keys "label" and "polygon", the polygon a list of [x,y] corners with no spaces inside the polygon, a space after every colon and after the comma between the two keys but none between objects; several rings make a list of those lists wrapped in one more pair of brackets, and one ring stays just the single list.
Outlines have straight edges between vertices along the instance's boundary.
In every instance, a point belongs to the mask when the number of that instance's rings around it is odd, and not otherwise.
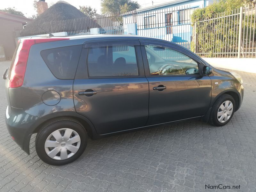
[{"label": "front door window with steering wheel visible through it", "polygon": [[151,76],[199,75],[195,60],[163,46],[145,45]]}]

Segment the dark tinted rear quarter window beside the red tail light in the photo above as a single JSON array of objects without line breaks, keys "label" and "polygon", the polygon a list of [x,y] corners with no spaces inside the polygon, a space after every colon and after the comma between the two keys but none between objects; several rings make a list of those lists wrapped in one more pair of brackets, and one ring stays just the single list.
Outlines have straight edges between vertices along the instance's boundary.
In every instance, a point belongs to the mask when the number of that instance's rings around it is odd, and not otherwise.
[{"label": "dark tinted rear quarter window beside the red tail light", "polygon": [[40,52],[44,62],[58,79],[74,79],[83,45],[47,49]]}]

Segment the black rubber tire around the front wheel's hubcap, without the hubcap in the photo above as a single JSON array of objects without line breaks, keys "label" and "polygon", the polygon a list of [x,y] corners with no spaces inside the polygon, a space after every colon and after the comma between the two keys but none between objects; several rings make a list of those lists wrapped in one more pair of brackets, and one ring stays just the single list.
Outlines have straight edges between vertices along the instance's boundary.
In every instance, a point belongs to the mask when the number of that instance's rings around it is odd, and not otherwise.
[{"label": "black rubber tire around the front wheel's hubcap, without the hubcap", "polygon": [[[231,114],[231,116],[229,117],[229,119],[224,122],[224,123],[221,123],[218,121],[218,118],[217,118],[217,113],[218,113],[218,110],[220,108],[220,105],[225,102],[225,101],[231,101],[232,104],[233,104],[233,112]],[[236,103],[235,103],[235,100],[234,98],[231,96],[231,95],[228,95],[228,94],[223,94],[221,95],[216,101],[215,103],[213,104],[212,106],[212,111],[211,111],[211,115],[210,115],[210,119],[209,119],[209,123],[214,125],[214,126],[223,126],[225,124],[227,124],[230,119],[233,117],[234,115],[234,112],[235,112],[235,108],[236,108]]]}]

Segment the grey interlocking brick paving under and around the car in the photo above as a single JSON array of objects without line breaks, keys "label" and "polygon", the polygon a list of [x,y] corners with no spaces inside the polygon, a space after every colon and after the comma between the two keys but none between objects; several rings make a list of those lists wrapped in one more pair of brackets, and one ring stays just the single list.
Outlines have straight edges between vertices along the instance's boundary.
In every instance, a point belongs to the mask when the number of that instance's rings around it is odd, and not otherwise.
[{"label": "grey interlocking brick paving under and around the car", "polygon": [[[9,65],[0,63],[0,75]],[[256,74],[244,79],[244,102],[226,126],[201,121],[159,126],[89,140],[84,154],[64,166],[43,163],[11,139],[4,123],[0,80],[0,192],[4,191],[256,191]],[[240,189],[205,189],[240,185]]]}]

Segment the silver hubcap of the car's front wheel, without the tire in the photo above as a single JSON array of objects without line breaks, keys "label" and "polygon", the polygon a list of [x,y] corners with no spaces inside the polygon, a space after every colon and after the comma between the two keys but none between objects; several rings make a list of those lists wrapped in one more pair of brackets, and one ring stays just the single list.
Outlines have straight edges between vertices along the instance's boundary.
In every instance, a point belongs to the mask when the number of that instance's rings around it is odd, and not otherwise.
[{"label": "silver hubcap of the car's front wheel, without the tire", "polygon": [[217,112],[217,119],[220,123],[225,123],[231,117],[233,104],[231,101],[224,101]]}]

